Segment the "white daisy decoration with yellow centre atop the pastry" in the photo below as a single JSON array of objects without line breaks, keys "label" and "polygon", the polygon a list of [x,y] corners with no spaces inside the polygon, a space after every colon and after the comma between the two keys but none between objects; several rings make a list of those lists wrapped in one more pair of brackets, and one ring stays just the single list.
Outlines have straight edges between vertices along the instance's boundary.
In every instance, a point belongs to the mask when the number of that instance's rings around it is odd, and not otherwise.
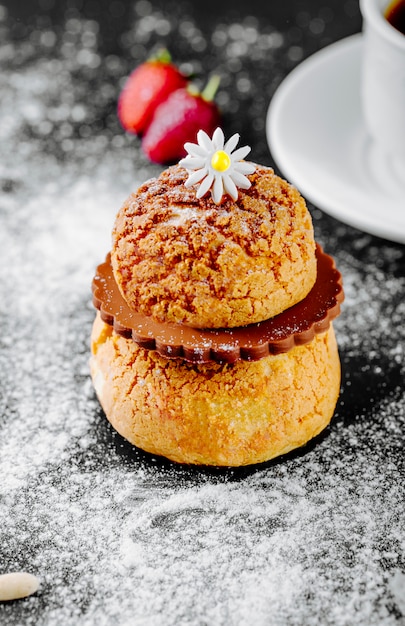
[{"label": "white daisy decoration with yellow centre atop the pastry", "polygon": [[251,182],[246,174],[253,174],[255,166],[242,159],[250,152],[249,146],[235,150],[239,134],[235,133],[224,144],[225,138],[221,128],[217,128],[209,138],[203,130],[198,131],[196,143],[185,143],[188,156],[181,159],[179,165],[189,172],[185,183],[192,187],[197,183],[197,198],[202,198],[211,189],[212,199],[219,204],[224,193],[233,200],[238,197],[238,187],[249,189]]}]

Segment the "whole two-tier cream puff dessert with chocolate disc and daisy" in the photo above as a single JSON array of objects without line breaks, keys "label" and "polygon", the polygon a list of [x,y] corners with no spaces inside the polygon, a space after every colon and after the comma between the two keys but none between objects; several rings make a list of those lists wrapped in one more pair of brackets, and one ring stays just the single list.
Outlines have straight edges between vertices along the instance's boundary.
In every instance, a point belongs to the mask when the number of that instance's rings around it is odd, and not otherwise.
[{"label": "whole two-tier cream puff dessert with chocolate disc and daisy", "polygon": [[343,300],[298,191],[218,128],[119,211],[90,361],[113,427],[187,464],[261,463],[330,422]]}]

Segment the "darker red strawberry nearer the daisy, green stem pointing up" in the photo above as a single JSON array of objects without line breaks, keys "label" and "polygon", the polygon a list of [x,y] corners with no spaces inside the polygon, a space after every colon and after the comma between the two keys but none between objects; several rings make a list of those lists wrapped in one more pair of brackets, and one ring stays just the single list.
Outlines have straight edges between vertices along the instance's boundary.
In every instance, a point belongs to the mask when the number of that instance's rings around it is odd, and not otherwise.
[{"label": "darker red strawberry nearer the daisy, green stem pointing up", "polygon": [[195,142],[199,130],[212,135],[221,115],[213,101],[219,78],[213,76],[204,91],[178,89],[155,110],[143,136],[142,149],[155,163],[174,163],[185,156],[186,141]]}]

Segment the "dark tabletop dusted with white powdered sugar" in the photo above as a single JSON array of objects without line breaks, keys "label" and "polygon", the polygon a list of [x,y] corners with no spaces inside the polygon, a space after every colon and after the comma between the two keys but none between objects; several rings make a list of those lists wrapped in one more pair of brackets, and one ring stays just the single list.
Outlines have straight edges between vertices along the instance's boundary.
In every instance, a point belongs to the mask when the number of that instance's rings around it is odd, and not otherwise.
[{"label": "dark tabletop dusted with white powdered sugar", "polygon": [[1,624],[405,623],[403,245],[309,204],[346,301],[336,414],[298,453],[153,458],[112,431],[88,371],[94,268],[162,169],[118,124],[129,71],[163,44],[197,81],[219,73],[225,133],[277,170],[276,88],[360,30],[355,0],[0,4],[0,573],[41,579]]}]

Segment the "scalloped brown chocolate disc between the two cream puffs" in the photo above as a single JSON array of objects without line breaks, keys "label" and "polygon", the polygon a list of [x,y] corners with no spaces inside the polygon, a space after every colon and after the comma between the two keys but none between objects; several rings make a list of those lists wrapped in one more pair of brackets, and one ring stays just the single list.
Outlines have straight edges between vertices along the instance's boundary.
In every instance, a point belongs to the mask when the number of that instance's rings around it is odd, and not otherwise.
[{"label": "scalloped brown chocolate disc between the two cream puffs", "polygon": [[344,300],[342,276],[331,256],[317,244],[315,285],[301,302],[257,324],[227,329],[199,329],[161,323],[130,309],[115,282],[110,254],[97,267],[93,304],[115,332],[141,348],[189,363],[257,361],[288,352],[325,332],[340,313]]}]

